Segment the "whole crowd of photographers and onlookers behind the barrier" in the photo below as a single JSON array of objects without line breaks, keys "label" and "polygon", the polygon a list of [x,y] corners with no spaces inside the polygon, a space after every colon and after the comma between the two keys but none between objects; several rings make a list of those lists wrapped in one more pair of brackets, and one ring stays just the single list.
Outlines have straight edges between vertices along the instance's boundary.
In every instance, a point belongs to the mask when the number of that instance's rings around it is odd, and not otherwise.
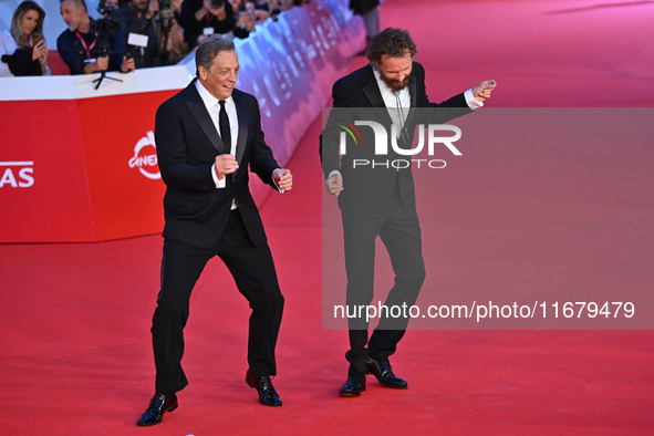
[{"label": "whole crowd of photographers and onlookers behind the barrier", "polygon": [[[71,74],[172,65],[214,33],[248,38],[257,24],[308,0],[101,0],[92,18],[84,0],[60,0],[68,29],[56,50]],[[17,8],[0,34],[0,76],[43,75],[45,12],[34,1]]]}]

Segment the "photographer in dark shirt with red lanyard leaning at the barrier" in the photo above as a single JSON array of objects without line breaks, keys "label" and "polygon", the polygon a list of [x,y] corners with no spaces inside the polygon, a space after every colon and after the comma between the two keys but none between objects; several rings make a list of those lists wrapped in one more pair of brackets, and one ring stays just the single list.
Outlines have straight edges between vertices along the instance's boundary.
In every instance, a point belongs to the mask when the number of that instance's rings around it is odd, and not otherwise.
[{"label": "photographer in dark shirt with red lanyard leaning at the barrier", "polygon": [[84,0],[60,0],[60,10],[69,28],[56,39],[56,50],[71,74],[134,71],[134,60],[125,55],[115,23],[93,20]]}]

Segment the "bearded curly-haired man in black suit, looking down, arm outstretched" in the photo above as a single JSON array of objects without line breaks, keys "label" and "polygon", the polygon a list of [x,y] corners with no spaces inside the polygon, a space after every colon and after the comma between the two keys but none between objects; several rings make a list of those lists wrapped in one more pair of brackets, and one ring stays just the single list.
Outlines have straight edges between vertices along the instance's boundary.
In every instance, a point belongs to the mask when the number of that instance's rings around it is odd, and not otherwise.
[{"label": "bearded curly-haired man in black suit, looking down, arm outstretched", "polygon": [[[436,108],[429,121],[443,123],[481,106],[495,87],[494,81],[486,81],[443,103],[430,103],[425,91],[425,71],[413,61],[415,54],[416,46],[407,31],[385,29],[370,42],[370,64],[340,79],[332,89],[334,108],[321,135],[321,158],[326,188],[339,196],[349,308],[372,302],[377,236],[388,251],[395,272],[395,284],[385,307],[415,304],[425,279],[425,266],[411,166],[357,166],[375,157],[392,162],[406,156],[392,147],[387,156],[375,156],[376,138],[371,128],[359,129],[361,143],[347,147],[341,155],[339,127],[345,125],[344,118],[373,117],[382,125],[393,125],[398,146],[411,148],[413,131],[421,116],[415,108]],[[341,388],[342,396],[360,396],[365,391],[368,373],[382,385],[407,387],[406,381],[393,373],[388,357],[395,353],[408,319],[382,316],[368,341],[367,320],[349,318],[350,351],[345,356],[350,368]]]}]

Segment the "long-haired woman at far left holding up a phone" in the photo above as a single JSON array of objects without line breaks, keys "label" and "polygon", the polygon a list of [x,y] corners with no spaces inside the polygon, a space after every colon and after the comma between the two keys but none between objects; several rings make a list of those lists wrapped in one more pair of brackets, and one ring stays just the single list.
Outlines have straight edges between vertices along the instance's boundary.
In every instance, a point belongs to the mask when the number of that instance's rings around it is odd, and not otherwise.
[{"label": "long-haired woman at far left holding up a phone", "polygon": [[0,33],[0,77],[48,73],[48,45],[43,40],[45,11],[23,1],[11,18],[11,29]]}]

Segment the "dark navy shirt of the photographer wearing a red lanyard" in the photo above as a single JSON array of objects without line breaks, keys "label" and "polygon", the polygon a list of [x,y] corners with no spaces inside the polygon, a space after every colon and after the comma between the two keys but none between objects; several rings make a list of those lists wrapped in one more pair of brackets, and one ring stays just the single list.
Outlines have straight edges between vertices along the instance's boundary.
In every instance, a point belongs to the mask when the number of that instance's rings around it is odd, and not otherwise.
[{"label": "dark navy shirt of the photographer wearing a red lanyard", "polygon": [[105,33],[103,38],[98,38],[93,30],[95,25],[95,20],[91,19],[91,31],[89,33],[72,32],[66,29],[56,39],[56,51],[73,75],[84,74],[85,61],[95,60],[103,52],[110,56],[107,71],[121,70],[125,44],[117,35],[110,37]]}]

